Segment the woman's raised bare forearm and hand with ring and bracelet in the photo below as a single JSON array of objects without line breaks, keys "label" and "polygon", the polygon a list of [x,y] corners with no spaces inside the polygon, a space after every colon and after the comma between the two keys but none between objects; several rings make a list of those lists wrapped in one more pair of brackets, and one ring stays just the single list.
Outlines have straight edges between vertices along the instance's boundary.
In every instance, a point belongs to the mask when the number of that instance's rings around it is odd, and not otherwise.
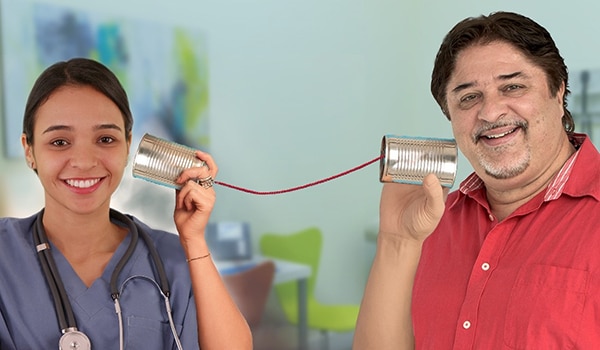
[{"label": "woman's raised bare forearm and hand with ring and bracelet", "polygon": [[252,349],[250,327],[209,257],[204,238],[215,204],[212,181],[217,175],[217,164],[207,153],[197,151],[196,157],[205,165],[186,169],[177,179],[182,187],[176,192],[174,218],[188,259],[198,344],[202,349]]}]

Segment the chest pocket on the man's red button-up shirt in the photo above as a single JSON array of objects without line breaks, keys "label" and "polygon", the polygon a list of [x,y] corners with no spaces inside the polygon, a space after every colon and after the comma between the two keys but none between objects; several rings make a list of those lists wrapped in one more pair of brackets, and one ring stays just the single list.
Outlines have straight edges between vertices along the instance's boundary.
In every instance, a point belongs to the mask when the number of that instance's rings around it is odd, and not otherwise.
[{"label": "chest pocket on the man's red button-up shirt", "polygon": [[504,341],[512,349],[572,349],[581,322],[588,272],[524,266],[511,291]]}]

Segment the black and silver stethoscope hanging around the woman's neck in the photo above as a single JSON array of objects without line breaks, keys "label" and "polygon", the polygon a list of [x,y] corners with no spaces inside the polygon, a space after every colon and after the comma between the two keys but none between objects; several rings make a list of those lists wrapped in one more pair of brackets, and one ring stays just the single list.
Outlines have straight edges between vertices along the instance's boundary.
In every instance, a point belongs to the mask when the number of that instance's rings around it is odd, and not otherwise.
[{"label": "black and silver stethoscope hanging around the woman's neck", "polygon": [[[75,321],[73,308],[69,302],[69,297],[62,279],[60,278],[58,268],[56,267],[56,262],[52,257],[52,252],[50,251],[50,242],[48,241],[48,237],[46,236],[46,231],[44,230],[44,225],[42,223],[43,216],[44,209],[40,211],[36,218],[36,222],[33,225],[33,240],[40,258],[40,264],[42,266],[44,276],[46,277],[46,281],[48,282],[48,286],[52,294],[54,308],[56,309],[56,316],[58,318],[58,323],[62,333],[62,336],[58,342],[58,348],[59,350],[90,350],[92,348],[90,339],[87,335],[85,335],[85,333],[77,329],[77,322]],[[110,278],[110,295],[115,303],[115,312],[117,313],[117,318],[119,320],[119,349],[124,349],[124,331],[123,315],[121,314],[121,304],[119,302],[119,296],[121,295],[121,292],[117,288],[117,279],[125,267],[125,264],[127,264],[127,261],[129,261],[129,258],[133,254],[138,242],[138,237],[141,236],[148,247],[148,251],[150,252],[152,261],[158,273],[158,280],[160,283],[154,283],[160,290],[165,301],[165,308],[169,317],[171,333],[173,333],[173,338],[175,339],[177,348],[182,350],[181,341],[177,335],[175,324],[173,322],[173,315],[171,313],[171,302],[169,301],[171,292],[169,289],[169,281],[156,247],[152,243],[150,236],[145,233],[144,230],[138,229],[138,226],[133,222],[133,220],[126,215],[111,209],[110,218],[111,220],[125,223],[129,228],[129,232],[131,233],[129,246],[121,257],[121,260],[119,260],[117,263],[117,266],[115,267]],[[131,278],[132,277],[130,277],[127,281],[131,280]]]}]

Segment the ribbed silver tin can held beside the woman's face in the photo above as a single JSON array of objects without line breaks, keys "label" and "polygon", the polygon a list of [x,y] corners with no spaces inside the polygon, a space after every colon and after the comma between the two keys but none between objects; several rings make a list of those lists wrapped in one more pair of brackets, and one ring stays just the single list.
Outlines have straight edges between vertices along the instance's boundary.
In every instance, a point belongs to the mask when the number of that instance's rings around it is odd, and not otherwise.
[{"label": "ribbed silver tin can held beside the woman's face", "polygon": [[133,177],[179,189],[175,180],[181,172],[203,165],[193,148],[145,134],[133,158]]}]

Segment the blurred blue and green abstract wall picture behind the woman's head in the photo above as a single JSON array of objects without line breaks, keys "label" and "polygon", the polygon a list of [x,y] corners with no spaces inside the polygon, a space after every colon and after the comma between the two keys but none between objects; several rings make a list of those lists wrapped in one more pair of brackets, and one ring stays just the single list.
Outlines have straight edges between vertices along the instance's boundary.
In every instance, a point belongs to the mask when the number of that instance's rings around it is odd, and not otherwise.
[{"label": "blurred blue and green abstract wall picture behind the woman's head", "polygon": [[148,132],[206,150],[208,54],[201,30],[33,1],[1,0],[2,120],[7,157],[22,157],[23,111],[36,77],[57,61],[88,57],[129,96],[134,139]]}]

